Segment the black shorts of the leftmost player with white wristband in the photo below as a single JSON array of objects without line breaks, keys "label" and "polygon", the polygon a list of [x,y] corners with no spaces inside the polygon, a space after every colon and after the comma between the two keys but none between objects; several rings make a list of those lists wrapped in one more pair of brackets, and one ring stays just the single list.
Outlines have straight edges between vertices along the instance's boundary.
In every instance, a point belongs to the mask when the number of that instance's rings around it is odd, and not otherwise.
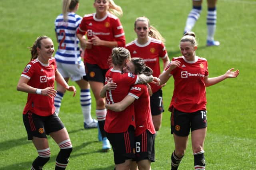
[{"label": "black shorts of the leftmost player with white wristband", "polygon": [[23,123],[26,127],[28,140],[32,140],[33,136],[47,138],[46,134],[49,135],[51,132],[64,128],[62,121],[56,113],[44,117],[28,111],[26,115],[23,115]]}]

